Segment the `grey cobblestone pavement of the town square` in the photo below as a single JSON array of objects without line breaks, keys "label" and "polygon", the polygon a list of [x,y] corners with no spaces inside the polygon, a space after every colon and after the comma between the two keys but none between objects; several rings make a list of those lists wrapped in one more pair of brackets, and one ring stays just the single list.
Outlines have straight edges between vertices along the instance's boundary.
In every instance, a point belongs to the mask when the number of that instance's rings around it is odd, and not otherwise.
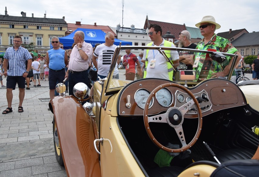
[{"label": "grey cobblestone pavement of the town square", "polygon": [[[119,77],[125,79],[125,70],[119,70]],[[252,79],[252,74],[246,74]],[[6,85],[6,77],[3,77]],[[38,83],[36,83],[37,85]],[[52,121],[48,111],[48,81],[41,81],[41,87],[25,90],[24,112],[18,112],[19,89],[13,90],[12,110],[0,117],[0,177],[66,177],[65,168],[55,157]],[[6,89],[0,86],[0,111],[7,108]]]}]

